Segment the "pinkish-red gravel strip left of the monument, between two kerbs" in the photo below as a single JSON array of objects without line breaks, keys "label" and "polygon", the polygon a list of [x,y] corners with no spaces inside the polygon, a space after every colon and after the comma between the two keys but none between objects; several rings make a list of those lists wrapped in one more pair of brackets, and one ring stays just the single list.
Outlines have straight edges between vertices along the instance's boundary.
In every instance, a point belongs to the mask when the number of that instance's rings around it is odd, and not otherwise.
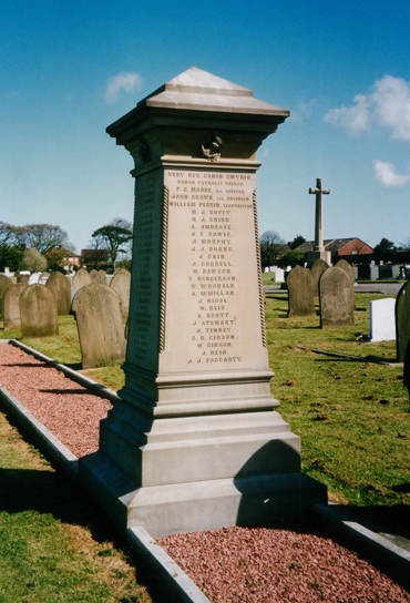
[{"label": "pinkish-red gravel strip left of the monument, between two kerbs", "polygon": [[12,345],[0,345],[0,384],[73,454],[99,449],[100,420],[112,408],[63,372]]}]

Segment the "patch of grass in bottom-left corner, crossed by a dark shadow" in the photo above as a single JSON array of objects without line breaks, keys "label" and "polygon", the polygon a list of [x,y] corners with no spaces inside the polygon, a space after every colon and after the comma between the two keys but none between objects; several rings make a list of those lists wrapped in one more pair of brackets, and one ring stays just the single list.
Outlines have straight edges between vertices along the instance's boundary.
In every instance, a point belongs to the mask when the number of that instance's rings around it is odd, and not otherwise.
[{"label": "patch of grass in bottom-left corner, crossed by a dark shadow", "polygon": [[2,412],[0,480],[1,603],[152,601],[106,518]]}]

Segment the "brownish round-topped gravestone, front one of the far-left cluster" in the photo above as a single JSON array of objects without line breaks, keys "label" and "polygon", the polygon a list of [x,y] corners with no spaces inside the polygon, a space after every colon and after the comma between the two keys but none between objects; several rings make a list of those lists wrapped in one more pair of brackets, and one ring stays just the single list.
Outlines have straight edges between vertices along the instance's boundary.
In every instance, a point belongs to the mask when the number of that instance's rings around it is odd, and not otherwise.
[{"label": "brownish round-topped gravestone, front one of the far-left cluster", "polygon": [[57,303],[44,285],[30,285],[21,293],[20,318],[23,339],[59,335]]}]

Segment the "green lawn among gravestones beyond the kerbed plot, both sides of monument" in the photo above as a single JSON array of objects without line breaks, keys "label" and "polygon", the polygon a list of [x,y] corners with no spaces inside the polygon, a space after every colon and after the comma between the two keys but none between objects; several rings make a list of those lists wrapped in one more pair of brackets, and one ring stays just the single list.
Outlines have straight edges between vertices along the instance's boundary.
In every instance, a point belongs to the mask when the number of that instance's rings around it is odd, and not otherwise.
[{"label": "green lawn among gravestones beyond the kerbed plot, both sides of monument", "polygon": [[[286,294],[267,294],[265,314],[271,394],[279,412],[301,438],[303,470],[328,486],[330,498],[356,505],[410,504],[410,412],[402,368],[369,357],[396,359],[394,341],[357,340],[369,333],[369,302],[356,294],[355,326],[320,329],[319,316],[287,318]],[[62,317],[60,337],[25,341],[61,362],[81,361],[75,323]],[[0,337],[21,338],[21,333]],[[331,358],[297,346],[352,356]],[[120,366],[92,369],[112,389],[124,381]]]}]

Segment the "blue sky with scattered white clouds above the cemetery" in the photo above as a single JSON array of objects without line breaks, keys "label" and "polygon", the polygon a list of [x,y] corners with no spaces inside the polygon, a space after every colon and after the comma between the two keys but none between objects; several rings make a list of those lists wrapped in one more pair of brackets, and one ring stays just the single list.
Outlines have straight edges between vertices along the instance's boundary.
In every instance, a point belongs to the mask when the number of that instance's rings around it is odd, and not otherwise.
[{"label": "blue sky with scattered white clouds above the cemetery", "polygon": [[133,217],[132,159],[105,133],[191,67],[290,110],[258,152],[259,232],[410,239],[410,3],[2,0],[0,221],[78,253]]}]

